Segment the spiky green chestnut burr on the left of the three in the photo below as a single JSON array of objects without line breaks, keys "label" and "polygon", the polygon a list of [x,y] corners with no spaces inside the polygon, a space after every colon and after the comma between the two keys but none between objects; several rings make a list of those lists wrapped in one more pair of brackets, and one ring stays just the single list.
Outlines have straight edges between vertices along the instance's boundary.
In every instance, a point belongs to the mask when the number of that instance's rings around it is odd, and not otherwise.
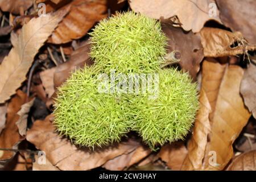
[{"label": "spiky green chestnut burr on the left of the three", "polygon": [[97,76],[94,67],[77,70],[57,94],[54,124],[79,146],[105,146],[120,140],[130,128],[122,97],[99,93]]}]

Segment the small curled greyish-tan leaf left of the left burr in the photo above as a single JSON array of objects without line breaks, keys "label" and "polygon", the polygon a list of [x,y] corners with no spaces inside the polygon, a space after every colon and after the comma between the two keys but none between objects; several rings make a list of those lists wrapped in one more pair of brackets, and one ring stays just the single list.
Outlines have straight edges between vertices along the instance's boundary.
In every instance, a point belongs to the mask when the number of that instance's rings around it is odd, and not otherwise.
[{"label": "small curled greyish-tan leaf left of the left burr", "polygon": [[26,104],[23,104],[21,106],[21,109],[18,111],[19,119],[16,122],[16,125],[18,126],[19,129],[19,134],[21,136],[26,135],[27,133],[27,117],[28,117],[28,112],[30,111],[30,108],[34,104],[35,98],[32,99],[31,101],[27,102]]}]

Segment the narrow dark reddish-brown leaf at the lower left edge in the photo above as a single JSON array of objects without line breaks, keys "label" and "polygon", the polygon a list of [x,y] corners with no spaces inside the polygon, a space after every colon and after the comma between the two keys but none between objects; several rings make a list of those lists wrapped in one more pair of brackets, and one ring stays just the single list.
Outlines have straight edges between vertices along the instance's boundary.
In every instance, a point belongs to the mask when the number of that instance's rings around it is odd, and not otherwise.
[{"label": "narrow dark reddish-brown leaf at the lower left edge", "polygon": [[[11,99],[7,107],[6,126],[0,135],[0,148],[15,148],[16,144],[22,140],[22,136],[19,134],[18,126],[16,122],[20,118],[18,111],[22,105],[26,103],[27,95],[18,90],[17,94]],[[10,159],[14,156],[12,151],[2,151],[0,155],[0,161]]]}]

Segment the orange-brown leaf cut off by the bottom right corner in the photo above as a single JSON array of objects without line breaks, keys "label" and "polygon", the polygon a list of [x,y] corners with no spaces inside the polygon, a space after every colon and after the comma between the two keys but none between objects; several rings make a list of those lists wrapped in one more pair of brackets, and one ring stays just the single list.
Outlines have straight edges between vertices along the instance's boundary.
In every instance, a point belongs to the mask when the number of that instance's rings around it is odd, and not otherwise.
[{"label": "orange-brown leaf cut off by the bottom right corner", "polygon": [[256,171],[256,150],[236,156],[227,168],[228,171]]}]

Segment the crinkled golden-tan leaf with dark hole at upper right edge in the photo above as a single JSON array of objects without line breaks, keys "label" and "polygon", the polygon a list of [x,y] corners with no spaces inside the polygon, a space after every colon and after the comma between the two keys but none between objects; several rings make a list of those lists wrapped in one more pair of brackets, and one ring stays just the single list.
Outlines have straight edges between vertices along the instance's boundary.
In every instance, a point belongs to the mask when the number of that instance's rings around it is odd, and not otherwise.
[{"label": "crinkled golden-tan leaf with dark hole at upper right edge", "polygon": [[[240,32],[204,27],[200,35],[205,57],[236,56],[256,49],[246,43]],[[232,47],[236,42],[238,46]]]}]

